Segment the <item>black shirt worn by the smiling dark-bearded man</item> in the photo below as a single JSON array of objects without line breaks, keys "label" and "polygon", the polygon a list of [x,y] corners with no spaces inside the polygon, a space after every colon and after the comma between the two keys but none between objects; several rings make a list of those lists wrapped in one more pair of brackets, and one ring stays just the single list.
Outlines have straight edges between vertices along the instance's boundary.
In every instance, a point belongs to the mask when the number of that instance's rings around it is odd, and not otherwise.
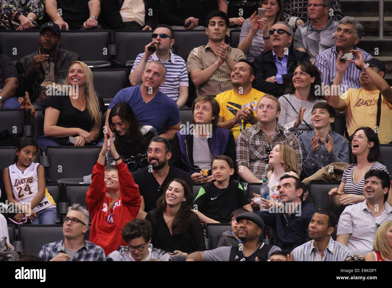
[{"label": "black shirt worn by the smiling dark-bearded man", "polygon": [[[144,199],[144,211],[149,212],[156,208],[156,201],[165,191],[167,184],[174,178],[183,179],[188,183],[189,188],[193,189],[191,175],[175,167],[169,167],[167,174],[162,185],[159,185],[152,172],[149,172],[149,167],[139,169],[132,173],[133,179],[139,185],[140,196]],[[231,213],[231,212],[230,212]]]}]

